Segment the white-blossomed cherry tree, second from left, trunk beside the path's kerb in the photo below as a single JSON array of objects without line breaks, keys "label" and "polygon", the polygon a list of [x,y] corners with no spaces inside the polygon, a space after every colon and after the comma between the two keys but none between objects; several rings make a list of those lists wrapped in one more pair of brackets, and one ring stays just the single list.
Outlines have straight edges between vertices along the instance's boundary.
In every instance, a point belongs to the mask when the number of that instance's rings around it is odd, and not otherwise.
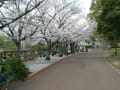
[{"label": "white-blossomed cherry tree, second from left, trunk beside the path's kerb", "polygon": [[[48,4],[49,3],[49,6]],[[42,38],[46,41],[48,50],[46,52],[46,60],[50,60],[50,53],[55,43],[59,42],[63,29],[70,25],[70,19],[74,15],[74,2],[65,2],[58,0],[50,0],[37,10],[36,21],[39,24],[39,31]],[[67,25],[68,24],[68,25]]]}]

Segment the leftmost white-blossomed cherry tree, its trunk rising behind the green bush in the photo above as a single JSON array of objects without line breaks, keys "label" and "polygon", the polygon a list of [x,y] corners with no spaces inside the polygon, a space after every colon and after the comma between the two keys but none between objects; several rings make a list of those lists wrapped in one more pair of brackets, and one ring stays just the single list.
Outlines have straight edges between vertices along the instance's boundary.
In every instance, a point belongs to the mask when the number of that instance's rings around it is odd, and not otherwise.
[{"label": "leftmost white-blossomed cherry tree, its trunk rising behind the green bush", "polygon": [[[1,27],[11,22],[12,19],[14,20],[14,17],[19,17],[23,12],[27,11],[28,8],[30,8],[32,5],[30,4],[31,2],[32,0],[29,2],[14,0],[11,1],[11,6],[9,5],[10,2],[9,4],[2,6],[0,12]],[[26,3],[28,3],[27,6]],[[33,20],[33,15],[34,12],[31,12],[27,15],[25,14],[15,22],[8,24],[5,28],[1,29],[1,31],[6,33],[15,43],[18,57],[21,55],[21,41],[25,40],[27,37],[34,35],[38,29],[38,26],[35,25],[35,22]]]}]

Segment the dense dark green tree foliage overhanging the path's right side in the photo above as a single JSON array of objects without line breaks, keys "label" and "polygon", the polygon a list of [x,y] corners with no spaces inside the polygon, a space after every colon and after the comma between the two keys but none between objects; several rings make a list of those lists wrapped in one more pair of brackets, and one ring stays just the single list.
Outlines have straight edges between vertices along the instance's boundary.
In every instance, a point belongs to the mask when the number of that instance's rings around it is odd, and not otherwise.
[{"label": "dense dark green tree foliage overhanging the path's right side", "polygon": [[94,0],[90,17],[97,22],[97,32],[116,47],[120,40],[120,0]]}]

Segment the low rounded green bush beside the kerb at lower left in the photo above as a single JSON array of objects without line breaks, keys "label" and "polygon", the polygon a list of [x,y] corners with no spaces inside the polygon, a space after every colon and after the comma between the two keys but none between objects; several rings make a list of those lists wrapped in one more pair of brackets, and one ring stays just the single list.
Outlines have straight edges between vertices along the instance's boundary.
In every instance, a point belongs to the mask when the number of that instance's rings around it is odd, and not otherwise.
[{"label": "low rounded green bush beside the kerb at lower left", "polygon": [[6,72],[7,70],[14,71],[16,75],[15,80],[24,80],[29,74],[29,69],[26,68],[22,60],[19,58],[13,58],[2,66],[2,72]]}]

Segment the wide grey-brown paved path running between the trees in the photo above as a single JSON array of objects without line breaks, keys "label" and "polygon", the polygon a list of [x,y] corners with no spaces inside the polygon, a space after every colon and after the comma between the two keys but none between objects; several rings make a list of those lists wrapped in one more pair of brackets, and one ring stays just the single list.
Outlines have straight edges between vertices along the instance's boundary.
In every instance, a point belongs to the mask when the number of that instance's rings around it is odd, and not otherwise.
[{"label": "wide grey-brown paved path running between the trees", "polygon": [[67,57],[16,90],[120,90],[120,75],[103,54],[92,50]]}]

